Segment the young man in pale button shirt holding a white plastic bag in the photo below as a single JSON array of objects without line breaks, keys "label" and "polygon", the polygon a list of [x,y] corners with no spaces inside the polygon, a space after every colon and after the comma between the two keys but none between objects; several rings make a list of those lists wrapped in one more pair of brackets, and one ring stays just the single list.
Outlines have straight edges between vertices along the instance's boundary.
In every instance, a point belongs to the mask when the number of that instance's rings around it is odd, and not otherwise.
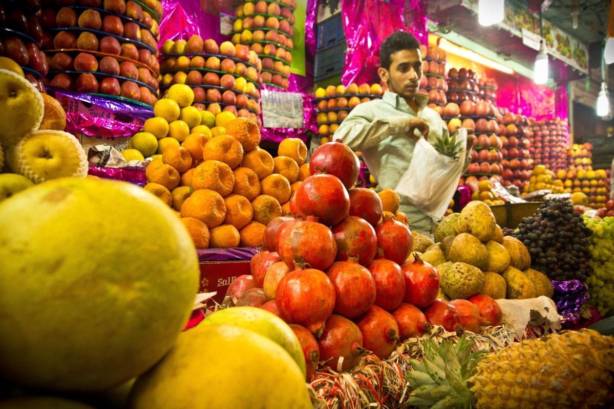
[{"label": "young man in pale button shirt holding a white plastic bag", "polygon": [[[349,113],[335,132],[346,145],[362,153],[382,189],[394,189],[410,166],[414,147],[420,137],[434,142],[448,134],[437,112],[428,108],[429,97],[418,93],[422,78],[420,43],[408,32],[397,31],[387,37],[379,51],[379,77],[389,91],[381,100],[360,104]],[[467,139],[467,150],[473,138]],[[465,162],[468,166],[469,155]],[[434,232],[437,220],[421,212],[407,197],[401,196],[400,211],[405,212],[411,230]]]}]

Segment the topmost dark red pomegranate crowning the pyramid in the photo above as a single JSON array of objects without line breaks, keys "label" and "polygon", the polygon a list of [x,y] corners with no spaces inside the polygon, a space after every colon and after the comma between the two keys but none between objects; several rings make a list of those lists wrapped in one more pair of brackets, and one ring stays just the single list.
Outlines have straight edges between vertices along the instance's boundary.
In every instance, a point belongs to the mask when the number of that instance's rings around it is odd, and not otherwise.
[{"label": "topmost dark red pomegranate crowning the pyramid", "polygon": [[360,172],[360,161],[341,139],[335,142],[327,142],[314,150],[309,159],[309,173],[315,175],[318,172],[327,173],[338,177],[346,189],[354,186]]}]

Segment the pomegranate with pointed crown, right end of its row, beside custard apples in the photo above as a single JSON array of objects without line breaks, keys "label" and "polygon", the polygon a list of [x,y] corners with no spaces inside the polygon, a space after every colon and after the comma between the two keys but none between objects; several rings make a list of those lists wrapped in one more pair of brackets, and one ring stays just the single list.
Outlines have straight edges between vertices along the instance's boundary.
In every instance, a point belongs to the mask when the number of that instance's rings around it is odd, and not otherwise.
[{"label": "pomegranate with pointed crown, right end of its row, beside custard apples", "polygon": [[405,277],[405,298],[403,301],[424,308],[437,299],[439,293],[439,273],[435,267],[422,261],[414,254],[414,261],[401,266]]}]

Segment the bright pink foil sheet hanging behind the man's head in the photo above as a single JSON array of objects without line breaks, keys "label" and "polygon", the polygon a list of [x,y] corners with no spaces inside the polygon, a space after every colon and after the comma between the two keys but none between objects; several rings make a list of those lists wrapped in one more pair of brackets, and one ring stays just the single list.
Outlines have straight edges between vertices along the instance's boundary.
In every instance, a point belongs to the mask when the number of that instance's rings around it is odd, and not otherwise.
[{"label": "bright pink foil sheet hanging behind the man's head", "polygon": [[409,31],[427,44],[426,1],[341,0],[348,41],[341,83],[379,83],[379,47],[398,30]]}]

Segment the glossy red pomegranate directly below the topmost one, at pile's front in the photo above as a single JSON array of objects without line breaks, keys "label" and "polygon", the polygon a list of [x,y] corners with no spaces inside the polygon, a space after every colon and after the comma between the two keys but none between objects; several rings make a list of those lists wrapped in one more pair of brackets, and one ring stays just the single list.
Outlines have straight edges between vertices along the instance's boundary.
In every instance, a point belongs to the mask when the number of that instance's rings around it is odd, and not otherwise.
[{"label": "glossy red pomegranate directly below the topmost one, at pile's front", "polygon": [[302,216],[316,216],[320,223],[335,226],[349,213],[349,194],[333,175],[309,176],[297,190],[297,209]]}]

